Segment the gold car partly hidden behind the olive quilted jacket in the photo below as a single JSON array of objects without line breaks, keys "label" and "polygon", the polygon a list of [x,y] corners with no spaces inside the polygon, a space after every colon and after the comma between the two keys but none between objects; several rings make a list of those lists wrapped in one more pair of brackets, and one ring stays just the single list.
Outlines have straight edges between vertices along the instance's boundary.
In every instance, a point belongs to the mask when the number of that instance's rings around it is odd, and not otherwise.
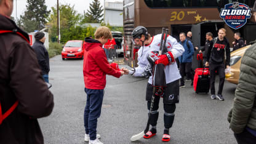
[{"label": "gold car partly hidden behind the olive quilted jacket", "polygon": [[227,81],[233,84],[238,84],[242,56],[244,55],[244,52],[246,52],[246,50],[249,47],[250,45],[231,52],[230,54],[231,76],[226,79]]}]

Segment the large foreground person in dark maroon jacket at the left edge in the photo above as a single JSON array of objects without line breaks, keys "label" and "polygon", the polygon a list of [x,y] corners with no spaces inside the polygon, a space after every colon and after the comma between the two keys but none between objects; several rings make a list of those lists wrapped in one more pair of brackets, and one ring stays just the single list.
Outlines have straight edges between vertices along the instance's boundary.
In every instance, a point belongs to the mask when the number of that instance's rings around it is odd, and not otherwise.
[{"label": "large foreground person in dark maroon jacket at the left edge", "polygon": [[41,144],[44,138],[37,119],[49,116],[54,97],[41,76],[28,34],[10,20],[12,8],[12,0],[0,0],[1,114],[17,103],[14,111],[0,122],[0,143]]}]

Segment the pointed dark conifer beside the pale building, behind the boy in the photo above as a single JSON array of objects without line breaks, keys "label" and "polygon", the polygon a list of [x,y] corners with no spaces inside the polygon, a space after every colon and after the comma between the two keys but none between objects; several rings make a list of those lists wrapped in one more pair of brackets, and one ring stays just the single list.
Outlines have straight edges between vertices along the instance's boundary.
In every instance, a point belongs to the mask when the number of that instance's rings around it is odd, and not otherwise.
[{"label": "pointed dark conifer beside the pale building, behind the boy", "polygon": [[89,9],[87,10],[86,14],[84,14],[85,23],[101,23],[103,17],[103,9],[100,6],[100,1],[94,0],[90,4]]}]

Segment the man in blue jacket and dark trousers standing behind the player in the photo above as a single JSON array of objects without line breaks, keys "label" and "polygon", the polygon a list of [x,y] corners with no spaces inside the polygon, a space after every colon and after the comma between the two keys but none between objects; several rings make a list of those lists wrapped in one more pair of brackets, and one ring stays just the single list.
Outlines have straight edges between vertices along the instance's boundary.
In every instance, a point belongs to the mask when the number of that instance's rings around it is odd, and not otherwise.
[{"label": "man in blue jacket and dark trousers standing behind the player", "polygon": [[185,33],[180,33],[180,44],[185,49],[185,52],[182,54],[182,56],[178,57],[178,61],[180,62],[180,75],[182,75],[182,78],[180,79],[180,87],[185,87],[184,82],[184,76],[188,76],[189,79],[191,79],[191,86],[193,86],[193,75],[191,73],[191,66],[192,66],[192,58],[194,54],[194,47],[193,44],[188,41],[187,46],[187,39]]}]

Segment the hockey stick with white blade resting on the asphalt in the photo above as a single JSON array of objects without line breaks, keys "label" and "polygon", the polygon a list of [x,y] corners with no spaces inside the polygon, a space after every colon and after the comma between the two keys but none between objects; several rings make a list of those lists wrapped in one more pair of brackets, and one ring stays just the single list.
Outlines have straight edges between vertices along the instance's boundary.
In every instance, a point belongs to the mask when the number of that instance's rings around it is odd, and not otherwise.
[{"label": "hockey stick with white blade resting on the asphalt", "polygon": [[[162,50],[162,42],[164,39],[164,30],[165,30],[165,28],[162,28],[162,36],[161,36],[159,54],[161,53],[161,50]],[[165,40],[165,42],[166,42],[166,40]],[[164,46],[165,46],[165,44],[164,44]],[[151,105],[150,105],[150,113],[148,114],[148,122],[146,123],[146,129],[137,135],[132,135],[132,137],[130,138],[131,141],[136,141],[136,140],[142,138],[143,135],[146,134],[146,132],[148,132],[148,130],[150,129],[151,111],[153,110],[153,105],[154,105],[154,93],[155,93],[155,87],[153,87],[153,94],[152,94]]]}]

